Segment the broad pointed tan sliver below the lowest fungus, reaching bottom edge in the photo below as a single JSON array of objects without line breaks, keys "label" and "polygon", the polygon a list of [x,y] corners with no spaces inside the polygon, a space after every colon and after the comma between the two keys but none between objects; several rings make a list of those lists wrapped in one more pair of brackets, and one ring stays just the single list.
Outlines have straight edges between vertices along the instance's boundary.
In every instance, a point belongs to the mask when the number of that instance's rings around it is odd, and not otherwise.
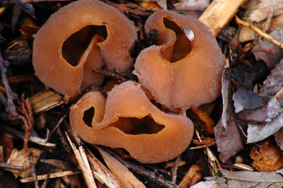
[{"label": "broad pointed tan sliver below the lowest fungus, reaching bottom edge", "polygon": [[132,172],[130,172],[125,165],[120,163],[117,159],[113,158],[107,152],[98,148],[98,151],[102,155],[108,168],[111,170],[113,175],[122,183],[124,187],[145,187],[142,182],[140,182],[137,177],[135,177]]}]

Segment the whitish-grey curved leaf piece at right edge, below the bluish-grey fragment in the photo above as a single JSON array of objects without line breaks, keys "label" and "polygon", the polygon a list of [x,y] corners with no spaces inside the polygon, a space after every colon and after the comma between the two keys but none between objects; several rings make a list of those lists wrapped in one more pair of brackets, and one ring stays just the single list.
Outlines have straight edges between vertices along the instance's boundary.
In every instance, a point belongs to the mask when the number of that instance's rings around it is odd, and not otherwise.
[{"label": "whitish-grey curved leaf piece at right edge, below the bluish-grey fragment", "polygon": [[248,141],[247,143],[254,143],[262,141],[268,136],[275,134],[281,127],[283,127],[283,114],[272,120],[268,124],[248,124]]}]

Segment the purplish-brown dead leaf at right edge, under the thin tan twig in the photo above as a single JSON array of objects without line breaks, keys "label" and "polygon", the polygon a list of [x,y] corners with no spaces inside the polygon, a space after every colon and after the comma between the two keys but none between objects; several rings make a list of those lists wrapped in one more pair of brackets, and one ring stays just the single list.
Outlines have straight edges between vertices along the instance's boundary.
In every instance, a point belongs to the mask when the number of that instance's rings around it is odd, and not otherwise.
[{"label": "purplish-brown dead leaf at right edge, under the thin tan twig", "polygon": [[[276,28],[270,33],[270,36],[276,40],[283,42],[283,30]],[[263,39],[252,49],[255,59],[265,61],[269,69],[273,69],[283,57],[283,49],[275,45],[274,43]]]}]

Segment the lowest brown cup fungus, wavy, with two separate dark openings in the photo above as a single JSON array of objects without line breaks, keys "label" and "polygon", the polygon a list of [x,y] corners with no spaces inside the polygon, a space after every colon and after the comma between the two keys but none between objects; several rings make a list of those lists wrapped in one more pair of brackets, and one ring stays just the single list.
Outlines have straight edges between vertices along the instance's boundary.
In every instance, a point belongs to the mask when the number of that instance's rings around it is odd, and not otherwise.
[{"label": "lowest brown cup fungus, wavy, with two separate dark openings", "polygon": [[97,91],[86,93],[71,107],[70,123],[84,141],[125,148],[141,163],[175,158],[193,134],[190,119],[162,112],[133,81],[115,86],[106,100]]}]

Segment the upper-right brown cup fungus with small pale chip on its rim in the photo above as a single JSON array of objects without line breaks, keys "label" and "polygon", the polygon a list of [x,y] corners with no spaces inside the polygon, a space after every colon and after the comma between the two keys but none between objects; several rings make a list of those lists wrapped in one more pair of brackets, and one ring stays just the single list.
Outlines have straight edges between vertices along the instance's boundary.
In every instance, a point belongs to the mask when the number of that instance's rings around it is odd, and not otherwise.
[{"label": "upper-right brown cup fungus with small pale chip on its rim", "polygon": [[[192,30],[192,41],[184,28]],[[190,16],[156,11],[146,20],[147,37],[152,30],[158,31],[156,45],[141,51],[134,68],[154,100],[184,110],[215,100],[225,61],[209,28]]]}]

